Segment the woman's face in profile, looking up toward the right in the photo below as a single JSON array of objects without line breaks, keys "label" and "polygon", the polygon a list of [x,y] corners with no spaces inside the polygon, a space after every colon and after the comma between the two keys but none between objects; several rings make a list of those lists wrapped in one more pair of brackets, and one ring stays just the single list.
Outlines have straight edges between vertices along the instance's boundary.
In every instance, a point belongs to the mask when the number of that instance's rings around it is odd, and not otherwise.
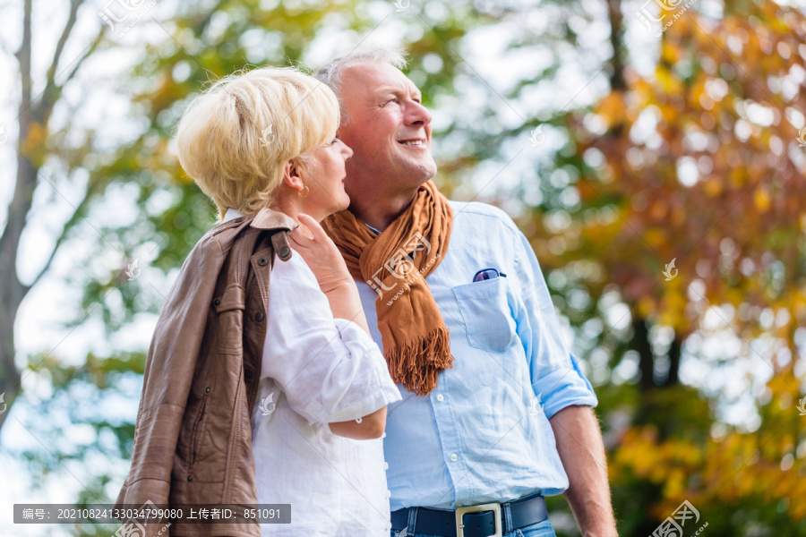
[{"label": "woman's face in profile, looking up toward the right", "polygon": [[[303,182],[310,193],[303,199],[303,212],[317,220],[347,209],[350,198],[344,191],[344,163],[353,149],[334,138],[327,146],[316,149],[304,166]],[[303,191],[304,192],[304,191]]]}]

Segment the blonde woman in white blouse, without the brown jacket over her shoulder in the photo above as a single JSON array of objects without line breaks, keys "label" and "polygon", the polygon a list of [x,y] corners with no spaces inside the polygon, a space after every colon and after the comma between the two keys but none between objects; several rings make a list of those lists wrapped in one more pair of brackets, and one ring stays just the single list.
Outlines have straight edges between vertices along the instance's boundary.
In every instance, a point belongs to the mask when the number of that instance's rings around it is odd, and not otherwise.
[{"label": "blonde woman in white blouse, without the brown jacket over her shoulder", "polygon": [[263,535],[389,534],[382,436],[400,400],[369,336],[356,285],[318,222],[346,209],[352,150],[336,137],[333,92],[292,68],[212,85],[177,132],[184,170],[222,222],[263,208],[299,224],[296,254],[271,271],[262,373],[252,414],[257,496],[290,504]]}]

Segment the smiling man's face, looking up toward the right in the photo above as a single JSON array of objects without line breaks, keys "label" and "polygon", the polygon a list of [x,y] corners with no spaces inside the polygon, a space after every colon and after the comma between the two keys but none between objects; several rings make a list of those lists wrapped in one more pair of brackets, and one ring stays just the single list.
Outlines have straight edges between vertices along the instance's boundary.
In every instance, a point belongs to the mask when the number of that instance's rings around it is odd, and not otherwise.
[{"label": "smiling man's face, looking up toward the right", "polygon": [[368,181],[409,190],[432,179],[432,117],[414,82],[383,62],[350,65],[341,81],[347,121],[339,138],[354,151],[347,161],[350,196],[360,196]]}]

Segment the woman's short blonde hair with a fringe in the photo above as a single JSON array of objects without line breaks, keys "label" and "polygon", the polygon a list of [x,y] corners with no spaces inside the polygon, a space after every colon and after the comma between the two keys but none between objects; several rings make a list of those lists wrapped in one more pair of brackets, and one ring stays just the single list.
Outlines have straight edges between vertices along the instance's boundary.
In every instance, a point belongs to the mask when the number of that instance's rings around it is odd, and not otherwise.
[{"label": "woman's short blonde hair with a fringe", "polygon": [[331,141],[339,101],[294,67],[236,72],[193,99],[176,131],[179,162],[219,209],[252,214],[270,204],[290,159],[304,166]]}]

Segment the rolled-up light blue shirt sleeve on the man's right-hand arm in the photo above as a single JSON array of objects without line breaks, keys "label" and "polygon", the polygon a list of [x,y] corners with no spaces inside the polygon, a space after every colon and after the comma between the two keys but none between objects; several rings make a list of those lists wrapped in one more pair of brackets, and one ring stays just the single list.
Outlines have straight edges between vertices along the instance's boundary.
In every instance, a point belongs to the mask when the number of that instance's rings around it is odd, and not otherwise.
[{"label": "rolled-up light blue shirt sleeve on the man's right-hand arm", "polygon": [[[516,270],[521,304],[516,311],[518,334],[524,345],[529,375],[546,417],[569,405],[596,406],[596,394],[570,353],[554,312],[551,295],[535,252],[516,233]],[[521,310],[522,308],[522,310]]]}]

